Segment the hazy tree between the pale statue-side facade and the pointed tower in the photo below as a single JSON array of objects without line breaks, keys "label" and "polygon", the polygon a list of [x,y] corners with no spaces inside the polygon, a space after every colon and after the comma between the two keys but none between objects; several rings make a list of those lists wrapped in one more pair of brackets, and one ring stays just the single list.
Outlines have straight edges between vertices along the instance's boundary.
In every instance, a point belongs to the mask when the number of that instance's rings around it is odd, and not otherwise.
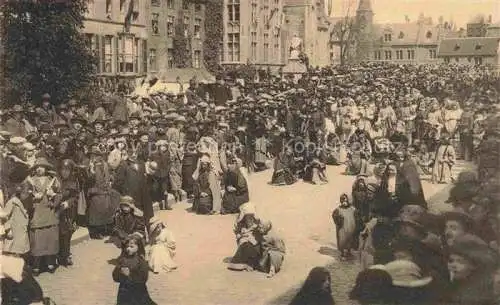
[{"label": "hazy tree between the pale statue-side facade and the pointed tower", "polygon": [[355,45],[355,24],[355,18],[345,16],[333,25],[330,43],[340,47],[340,65],[345,65],[351,60]]}]

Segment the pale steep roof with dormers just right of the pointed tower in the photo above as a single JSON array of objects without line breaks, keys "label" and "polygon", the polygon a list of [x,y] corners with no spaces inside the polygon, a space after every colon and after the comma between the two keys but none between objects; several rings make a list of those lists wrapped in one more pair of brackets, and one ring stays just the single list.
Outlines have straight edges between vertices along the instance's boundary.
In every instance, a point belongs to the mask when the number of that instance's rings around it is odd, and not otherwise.
[{"label": "pale steep roof with dormers just right of the pointed tower", "polygon": [[391,41],[386,42],[390,45],[437,44],[450,32],[439,25],[416,22],[377,24],[373,31],[375,38],[382,41],[385,33],[391,33]]}]

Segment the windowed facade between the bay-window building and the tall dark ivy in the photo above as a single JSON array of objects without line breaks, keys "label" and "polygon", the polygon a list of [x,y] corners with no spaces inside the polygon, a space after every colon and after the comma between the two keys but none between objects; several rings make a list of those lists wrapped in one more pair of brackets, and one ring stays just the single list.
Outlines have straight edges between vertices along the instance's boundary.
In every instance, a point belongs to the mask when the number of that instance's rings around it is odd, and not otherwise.
[{"label": "windowed facade between the bay-window building and the tall dark ivy", "polygon": [[166,82],[173,82],[177,76],[184,76],[178,75],[180,72],[174,52],[176,35],[183,35],[186,39],[189,60],[187,67],[183,67],[182,70],[189,73],[183,74],[194,74],[194,70],[203,69],[205,1],[147,1],[150,2],[147,25],[148,75],[157,76]]}]

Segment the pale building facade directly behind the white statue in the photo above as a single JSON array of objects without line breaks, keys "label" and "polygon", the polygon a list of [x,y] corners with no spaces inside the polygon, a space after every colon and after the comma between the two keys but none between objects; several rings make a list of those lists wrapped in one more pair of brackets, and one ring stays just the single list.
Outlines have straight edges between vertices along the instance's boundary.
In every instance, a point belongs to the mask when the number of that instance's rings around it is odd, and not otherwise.
[{"label": "pale building facade directly behind the white statue", "polygon": [[324,0],[285,0],[285,60],[288,60],[289,44],[297,36],[302,40],[302,52],[309,58],[310,66],[324,67],[331,64],[327,6]]}]

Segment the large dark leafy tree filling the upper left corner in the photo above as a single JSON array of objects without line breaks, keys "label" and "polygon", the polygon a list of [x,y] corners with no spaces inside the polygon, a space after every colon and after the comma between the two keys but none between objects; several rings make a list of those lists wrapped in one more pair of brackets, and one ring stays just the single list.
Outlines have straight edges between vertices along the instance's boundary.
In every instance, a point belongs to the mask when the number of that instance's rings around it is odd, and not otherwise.
[{"label": "large dark leafy tree filling the upper left corner", "polygon": [[86,2],[2,3],[3,93],[8,101],[38,102],[49,93],[53,103],[60,103],[93,82],[97,60],[81,32]]}]

